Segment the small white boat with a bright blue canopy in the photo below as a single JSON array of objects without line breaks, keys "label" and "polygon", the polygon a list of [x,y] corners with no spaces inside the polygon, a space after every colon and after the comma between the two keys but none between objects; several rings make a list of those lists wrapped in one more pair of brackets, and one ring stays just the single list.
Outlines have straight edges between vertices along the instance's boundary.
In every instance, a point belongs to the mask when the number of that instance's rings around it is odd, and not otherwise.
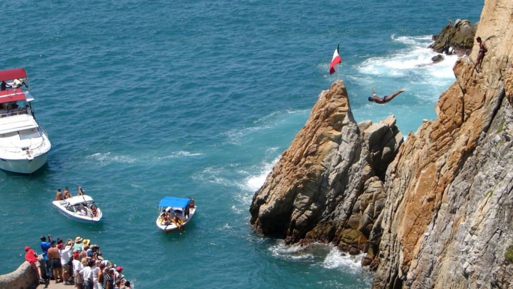
[{"label": "small white boat with a bright blue canopy", "polygon": [[[165,197],[159,203],[159,216],[155,223],[165,233],[173,233],[187,226],[194,213],[196,205],[192,198]],[[173,221],[174,216],[179,218],[178,224]]]}]

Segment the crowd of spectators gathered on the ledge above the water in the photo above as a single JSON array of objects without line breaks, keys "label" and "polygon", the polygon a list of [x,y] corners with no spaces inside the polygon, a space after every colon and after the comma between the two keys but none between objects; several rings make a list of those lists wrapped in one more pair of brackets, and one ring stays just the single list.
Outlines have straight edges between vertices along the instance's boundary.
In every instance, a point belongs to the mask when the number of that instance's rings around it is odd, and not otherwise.
[{"label": "crowd of spectators gathered on the ledge above the water", "polygon": [[48,239],[41,236],[41,250],[45,272],[34,249],[25,247],[25,260],[35,270],[40,284],[54,280],[77,289],[131,289],[123,267],[106,260],[100,245],[90,244],[89,239],[76,237],[63,241],[48,234]]}]

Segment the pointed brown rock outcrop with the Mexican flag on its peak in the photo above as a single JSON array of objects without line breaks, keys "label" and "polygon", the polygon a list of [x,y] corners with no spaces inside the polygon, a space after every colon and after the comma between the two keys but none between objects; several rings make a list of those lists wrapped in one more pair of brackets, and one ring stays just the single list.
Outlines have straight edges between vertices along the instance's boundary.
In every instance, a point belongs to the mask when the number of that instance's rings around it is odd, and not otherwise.
[{"label": "pointed brown rock outcrop with the Mexican flag on its peak", "polygon": [[334,242],[349,252],[378,249],[382,181],[403,136],[393,116],[357,124],[339,81],[319,95],[310,118],[251,204],[258,232],[287,243]]}]

